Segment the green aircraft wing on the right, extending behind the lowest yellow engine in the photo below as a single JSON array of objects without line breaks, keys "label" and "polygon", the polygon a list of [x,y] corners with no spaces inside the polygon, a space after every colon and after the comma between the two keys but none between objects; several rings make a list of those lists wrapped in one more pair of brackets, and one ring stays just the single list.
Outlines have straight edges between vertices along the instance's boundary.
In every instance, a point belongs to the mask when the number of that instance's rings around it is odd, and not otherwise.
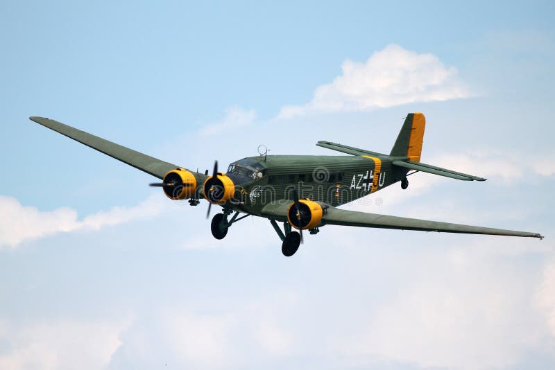
[{"label": "green aircraft wing on the right, extending behind the lowest yellow engine", "polygon": [[[262,215],[267,218],[285,221],[287,220],[287,209],[290,202],[284,204],[268,204],[262,210]],[[322,204],[323,208],[327,205]],[[436,231],[443,233],[457,234],[485,234],[485,235],[503,235],[503,236],[522,236],[529,238],[540,238],[543,236],[536,233],[526,231],[513,231],[504,229],[493,229],[490,227],[469,226],[466,224],[452,224],[450,222],[438,222],[429,220],[419,220],[418,218],[405,218],[392,215],[379,215],[376,213],[365,213],[358,211],[349,211],[345,209],[337,209],[333,206],[327,206],[325,214],[322,216],[320,226],[326,224],[336,224],[341,226],[356,227],[373,227],[377,229],[400,229],[400,230],[416,230],[416,231]]]}]

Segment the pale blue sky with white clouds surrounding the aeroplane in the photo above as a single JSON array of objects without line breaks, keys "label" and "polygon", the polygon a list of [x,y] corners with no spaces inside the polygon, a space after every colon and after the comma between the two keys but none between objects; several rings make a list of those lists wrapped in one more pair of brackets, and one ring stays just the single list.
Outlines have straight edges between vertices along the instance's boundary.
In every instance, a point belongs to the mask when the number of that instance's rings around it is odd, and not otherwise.
[{"label": "pale blue sky with white clouds surrounding the aeroplane", "polygon": [[[0,2],[0,369],[553,369],[549,1]],[[327,226],[292,258],[28,120],[202,172],[389,152],[418,173],[345,209],[539,232]],[[214,209],[213,209],[214,213]]]}]

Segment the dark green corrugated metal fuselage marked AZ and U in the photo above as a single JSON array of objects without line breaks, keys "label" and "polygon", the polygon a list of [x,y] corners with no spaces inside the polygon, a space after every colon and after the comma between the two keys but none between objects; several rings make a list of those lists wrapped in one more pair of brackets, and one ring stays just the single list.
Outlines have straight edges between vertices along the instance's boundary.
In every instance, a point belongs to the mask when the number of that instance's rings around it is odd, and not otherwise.
[{"label": "dark green corrugated metal fuselage marked AZ and U", "polygon": [[375,193],[407,174],[406,169],[392,166],[386,155],[268,155],[244,160],[259,162],[263,176],[236,184],[232,208],[255,215],[270,202],[293,200],[294,189],[300,198],[339,206]]}]

